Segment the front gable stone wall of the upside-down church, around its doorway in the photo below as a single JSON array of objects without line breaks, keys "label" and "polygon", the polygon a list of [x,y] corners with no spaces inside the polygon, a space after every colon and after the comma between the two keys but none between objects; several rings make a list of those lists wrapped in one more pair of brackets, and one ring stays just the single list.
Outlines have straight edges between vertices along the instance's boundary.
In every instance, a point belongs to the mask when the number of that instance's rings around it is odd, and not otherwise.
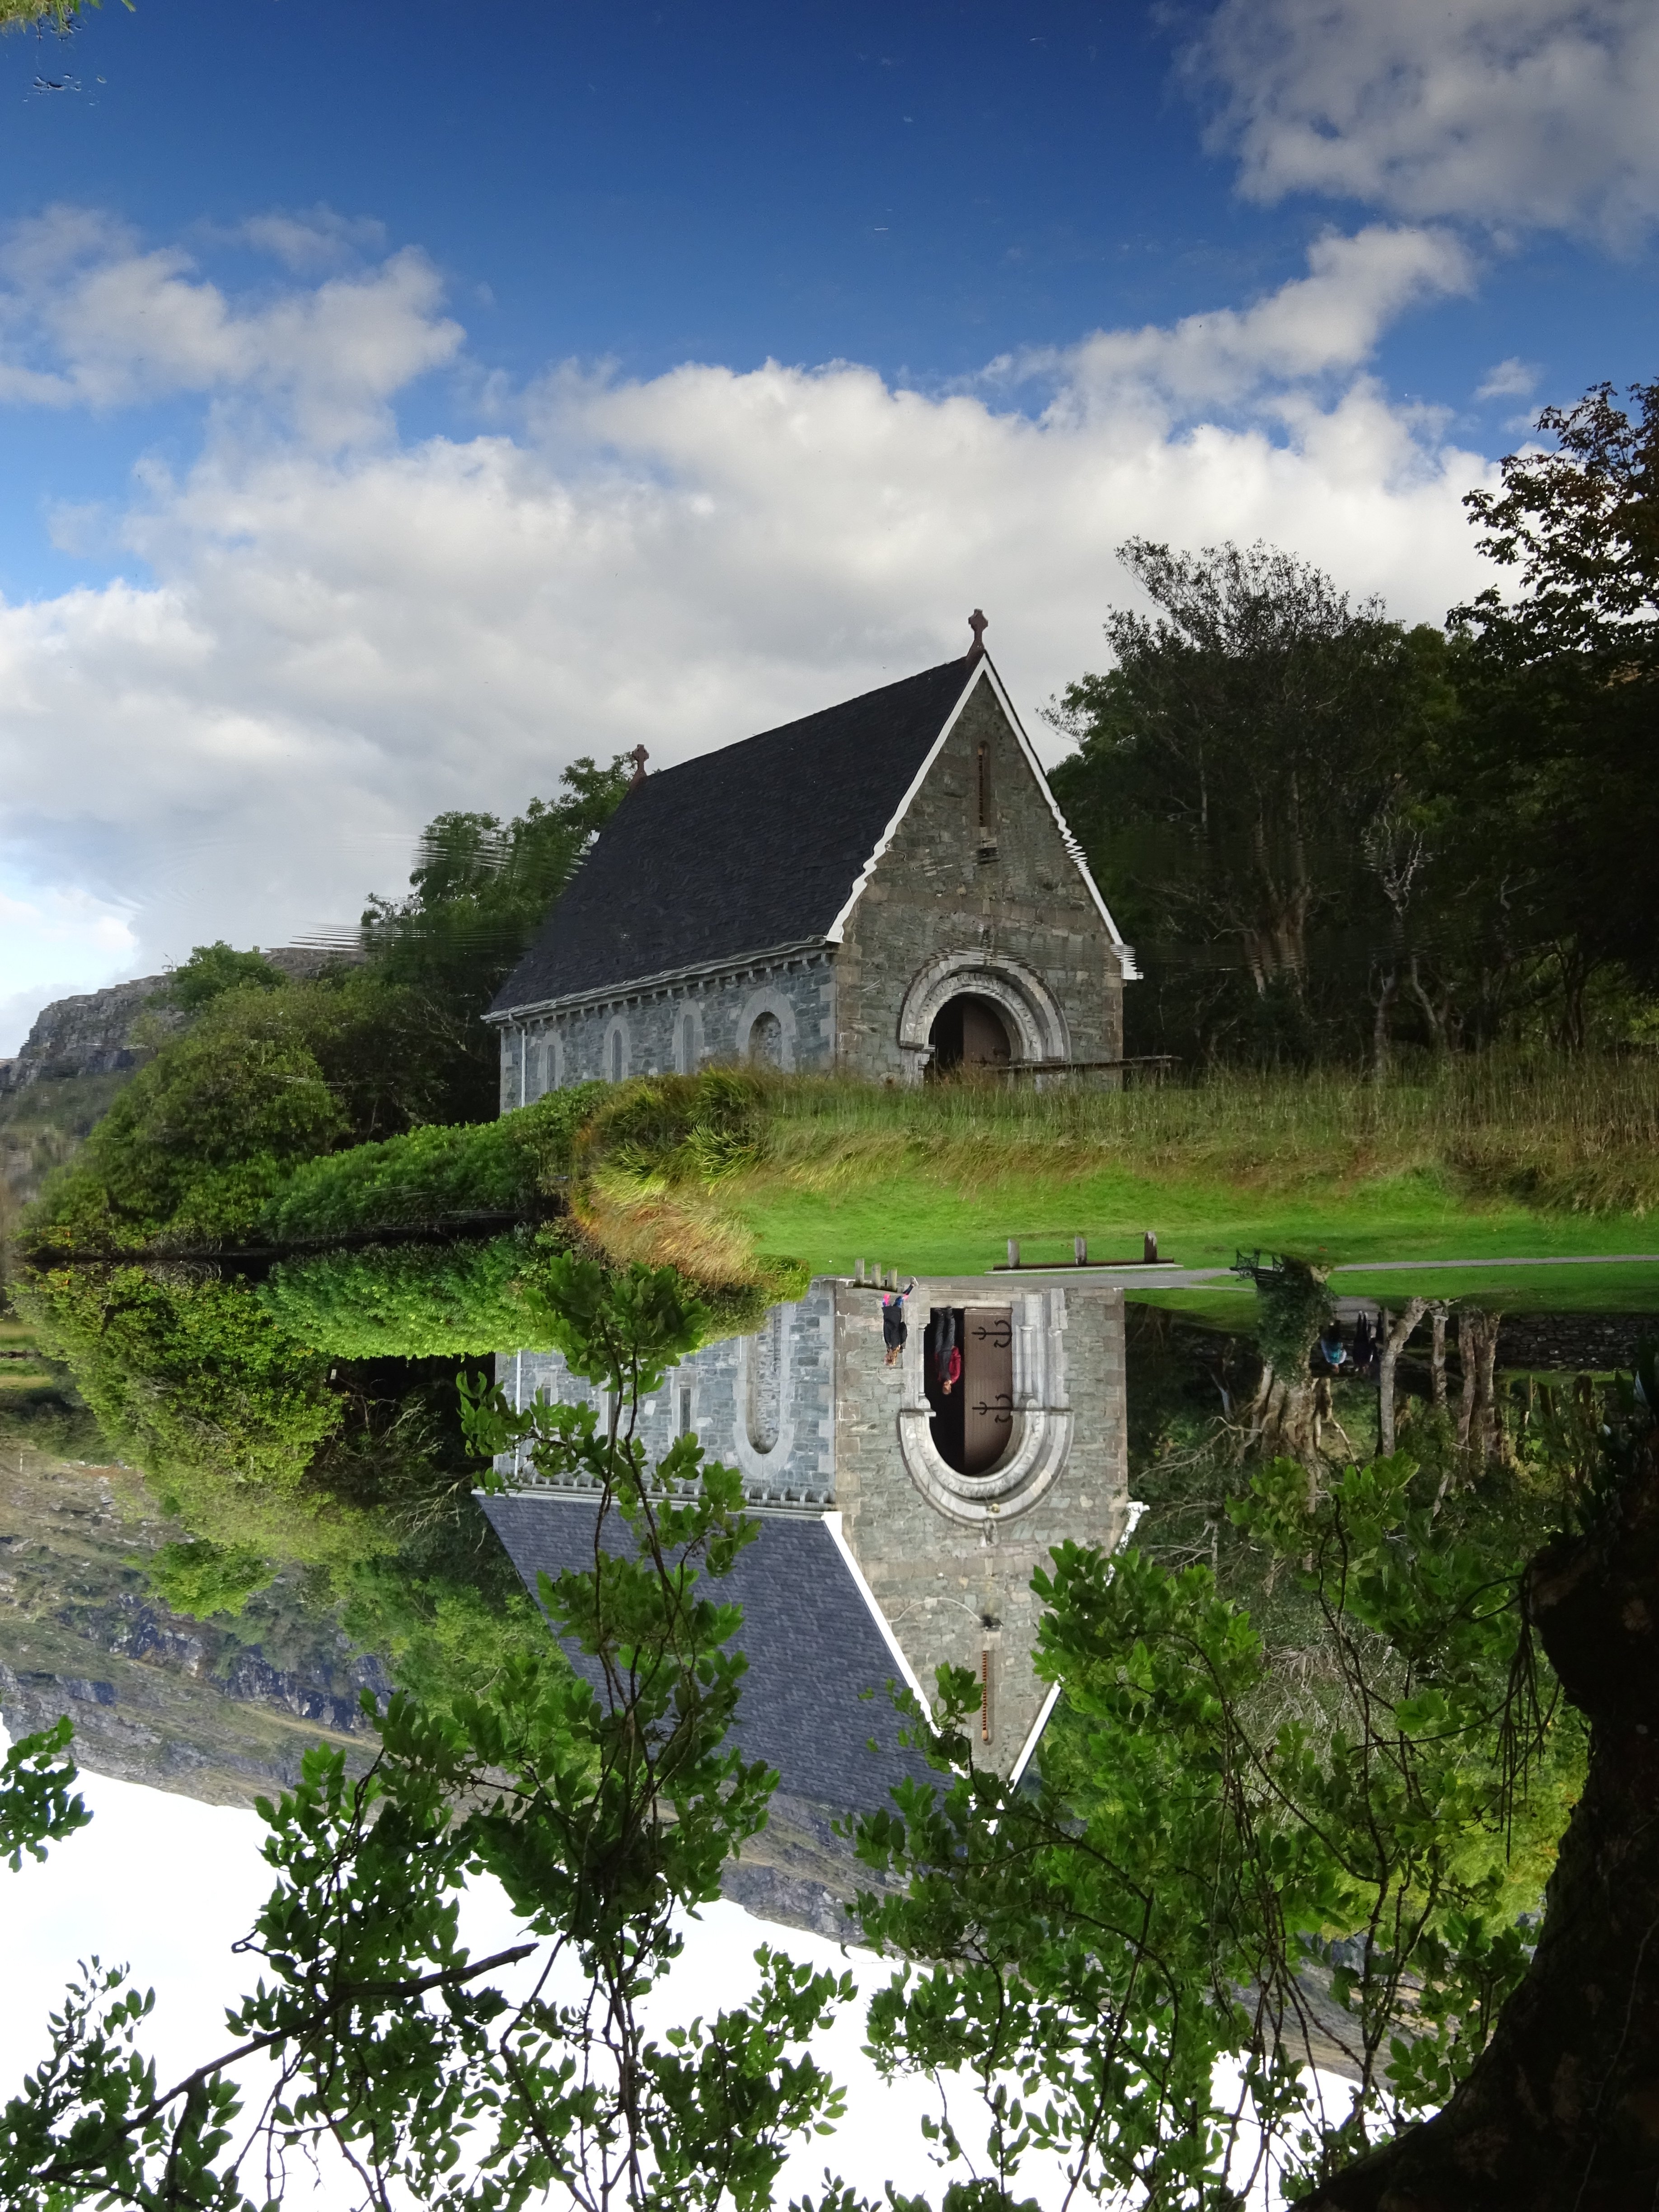
[{"label": "front gable stone wall of the upside-down church, around its doorway", "polygon": [[[938,1666],[978,1674],[991,1652],[991,1741],[975,1743],[975,1756],[1004,1774],[1046,1694],[1031,1670],[1042,1610],[1031,1575],[1064,1537],[1110,1551],[1128,1511],[1124,1294],[1068,1287],[1064,1298],[1071,1455],[1053,1486],[987,1542],[911,1480],[898,1442],[905,1369],[883,1365],[880,1298],[836,1285],[836,1504],[847,1544],[929,1692]],[[962,1303],[993,1301],[984,1283],[918,1283],[907,1305],[911,1338],[929,1305]]]}]

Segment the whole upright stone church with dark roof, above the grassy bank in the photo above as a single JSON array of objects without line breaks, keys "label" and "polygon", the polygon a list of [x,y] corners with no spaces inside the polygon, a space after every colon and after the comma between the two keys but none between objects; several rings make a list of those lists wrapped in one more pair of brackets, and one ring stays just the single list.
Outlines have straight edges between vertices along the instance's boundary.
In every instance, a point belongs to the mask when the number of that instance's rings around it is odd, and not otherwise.
[{"label": "whole upright stone church with dark roof, above the grassy bank", "polygon": [[717,1060],[1110,1071],[1133,973],[975,637],[962,661],[641,768],[489,1020],[502,1108]]}]

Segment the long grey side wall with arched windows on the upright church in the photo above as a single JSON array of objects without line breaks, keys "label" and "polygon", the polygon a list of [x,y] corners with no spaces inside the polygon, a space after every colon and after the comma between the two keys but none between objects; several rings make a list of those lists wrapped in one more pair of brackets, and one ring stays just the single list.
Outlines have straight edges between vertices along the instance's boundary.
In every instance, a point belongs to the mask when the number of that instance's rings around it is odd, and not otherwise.
[{"label": "long grey side wall with arched windows on the upright church", "polygon": [[[776,1015],[779,1066],[827,1068],[834,1051],[834,962],[805,953],[785,962],[750,962],[726,975],[626,991],[615,1000],[502,1026],[502,1113],[613,1075],[611,1037],[622,1035],[622,1073],[690,1075],[710,1062],[750,1057],[752,1029]],[[692,1018],[692,1055],[684,1024]],[[520,1097],[520,1086],[524,1097]]]}]

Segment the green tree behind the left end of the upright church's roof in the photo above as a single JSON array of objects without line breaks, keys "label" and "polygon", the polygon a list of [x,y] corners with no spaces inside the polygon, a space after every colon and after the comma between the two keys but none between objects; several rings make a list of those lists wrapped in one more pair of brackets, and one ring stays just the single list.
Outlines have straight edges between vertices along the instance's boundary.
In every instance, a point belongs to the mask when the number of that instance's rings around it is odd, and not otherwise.
[{"label": "green tree behind the left end of the upright church's roof", "polygon": [[557,799],[495,814],[440,814],[420,841],[409,896],[369,898],[363,933],[378,973],[411,989],[456,1064],[449,1121],[498,1108],[498,1044],[480,1015],[611,821],[633,770],[573,761]]}]

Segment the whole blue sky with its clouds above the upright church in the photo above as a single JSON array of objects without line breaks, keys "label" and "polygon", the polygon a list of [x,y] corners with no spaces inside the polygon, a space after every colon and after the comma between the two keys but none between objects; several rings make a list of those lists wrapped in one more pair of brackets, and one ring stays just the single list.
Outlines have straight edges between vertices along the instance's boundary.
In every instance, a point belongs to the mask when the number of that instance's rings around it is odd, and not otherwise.
[{"label": "whole blue sky with its clouds above the upright church", "polygon": [[1130,531],[1438,619],[1535,407],[1655,374],[1655,111],[1626,0],[0,42],[0,1051],[975,602],[1035,712]]}]

